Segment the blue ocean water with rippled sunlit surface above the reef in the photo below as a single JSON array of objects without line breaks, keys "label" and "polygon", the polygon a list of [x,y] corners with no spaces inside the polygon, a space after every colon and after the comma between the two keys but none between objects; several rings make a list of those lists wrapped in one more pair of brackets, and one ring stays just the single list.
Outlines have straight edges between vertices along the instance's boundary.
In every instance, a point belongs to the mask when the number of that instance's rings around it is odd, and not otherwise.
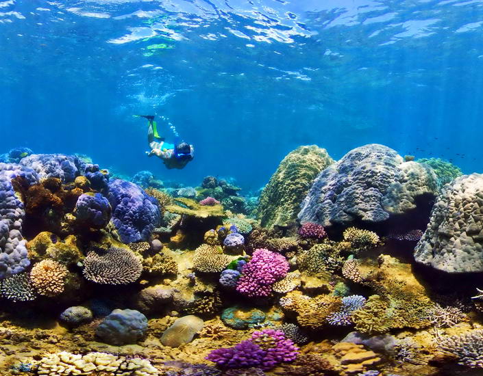
[{"label": "blue ocean water with rippled sunlit surface above the reef", "polygon": [[[482,36],[482,0],[0,1],[0,152],[247,189],[301,144],[482,172]],[[139,113],[195,160],[147,158]]]}]

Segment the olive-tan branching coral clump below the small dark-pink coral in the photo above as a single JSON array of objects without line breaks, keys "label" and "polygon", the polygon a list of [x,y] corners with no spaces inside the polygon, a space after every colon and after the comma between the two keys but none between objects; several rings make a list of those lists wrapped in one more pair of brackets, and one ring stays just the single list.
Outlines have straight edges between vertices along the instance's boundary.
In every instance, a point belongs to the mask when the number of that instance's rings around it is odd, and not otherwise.
[{"label": "olive-tan branching coral clump below the small dark-pink coral", "polygon": [[334,273],[343,265],[343,258],[333,243],[316,244],[310,250],[297,255],[297,267],[301,271],[317,275],[323,271]]}]

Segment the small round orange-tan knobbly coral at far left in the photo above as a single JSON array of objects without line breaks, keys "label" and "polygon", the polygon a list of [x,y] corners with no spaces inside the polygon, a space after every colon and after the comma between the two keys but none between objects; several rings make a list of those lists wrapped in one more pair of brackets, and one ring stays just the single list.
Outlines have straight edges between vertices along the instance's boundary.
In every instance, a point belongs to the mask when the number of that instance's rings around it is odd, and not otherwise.
[{"label": "small round orange-tan knobbly coral at far left", "polygon": [[64,292],[67,268],[54,260],[42,260],[30,271],[32,286],[40,295],[55,297]]}]

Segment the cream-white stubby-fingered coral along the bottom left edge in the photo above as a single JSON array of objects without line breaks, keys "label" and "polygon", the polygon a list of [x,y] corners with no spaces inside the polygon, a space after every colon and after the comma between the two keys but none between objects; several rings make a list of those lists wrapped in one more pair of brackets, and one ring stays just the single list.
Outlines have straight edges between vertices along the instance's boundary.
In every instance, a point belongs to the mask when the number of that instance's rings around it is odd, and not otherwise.
[{"label": "cream-white stubby-fingered coral along the bottom left edge", "polygon": [[148,360],[125,358],[110,353],[87,353],[77,355],[62,351],[45,356],[37,367],[38,375],[74,376],[158,376],[159,373]]}]

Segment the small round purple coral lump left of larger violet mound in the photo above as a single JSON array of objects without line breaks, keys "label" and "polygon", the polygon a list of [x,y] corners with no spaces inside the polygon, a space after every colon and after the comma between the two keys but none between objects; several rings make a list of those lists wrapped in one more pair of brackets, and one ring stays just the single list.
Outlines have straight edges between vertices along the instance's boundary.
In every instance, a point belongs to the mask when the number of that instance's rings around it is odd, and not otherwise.
[{"label": "small round purple coral lump left of larger violet mound", "polygon": [[88,228],[106,227],[111,219],[111,206],[101,193],[84,193],[75,204],[75,217]]}]

